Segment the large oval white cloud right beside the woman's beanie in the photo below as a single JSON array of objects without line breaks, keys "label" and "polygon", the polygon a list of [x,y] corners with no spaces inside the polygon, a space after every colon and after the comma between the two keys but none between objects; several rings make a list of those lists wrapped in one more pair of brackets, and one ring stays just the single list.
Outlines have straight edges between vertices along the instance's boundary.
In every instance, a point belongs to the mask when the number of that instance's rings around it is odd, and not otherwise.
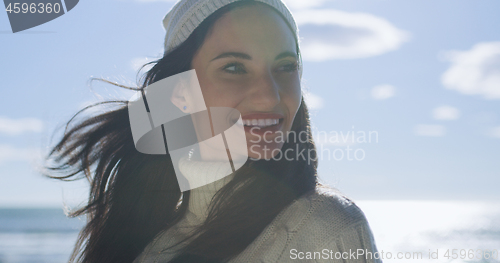
[{"label": "large oval white cloud right beside the woman's beanie", "polygon": [[398,49],[409,33],[384,18],[333,9],[294,12],[304,60],[326,61],[377,56]]}]

